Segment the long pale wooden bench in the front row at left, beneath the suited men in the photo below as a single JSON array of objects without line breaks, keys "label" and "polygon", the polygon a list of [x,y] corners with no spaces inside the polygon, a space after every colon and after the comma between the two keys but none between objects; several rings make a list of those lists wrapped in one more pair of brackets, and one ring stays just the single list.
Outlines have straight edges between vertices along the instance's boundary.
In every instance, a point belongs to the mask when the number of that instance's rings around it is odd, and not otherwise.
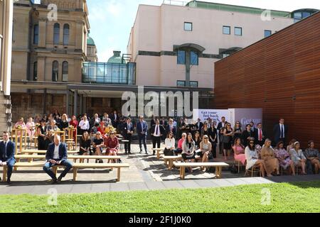
[{"label": "long pale wooden bench in the front row at left, beneath the suited men", "polygon": [[[43,167],[45,165],[45,162],[16,162],[14,167]],[[127,168],[129,167],[129,164],[127,163],[74,163],[73,164],[73,181],[76,181],[77,179],[77,173],[78,169],[87,169],[87,168],[92,168],[92,169],[108,169],[110,168],[113,170],[113,168],[117,169],[117,182],[120,181],[120,170],[121,168]],[[56,165],[53,167],[53,172],[55,175],[57,175],[58,168],[65,168],[64,166]],[[6,172],[7,172],[7,167],[4,166],[3,170],[3,177],[2,181],[6,182]]]}]

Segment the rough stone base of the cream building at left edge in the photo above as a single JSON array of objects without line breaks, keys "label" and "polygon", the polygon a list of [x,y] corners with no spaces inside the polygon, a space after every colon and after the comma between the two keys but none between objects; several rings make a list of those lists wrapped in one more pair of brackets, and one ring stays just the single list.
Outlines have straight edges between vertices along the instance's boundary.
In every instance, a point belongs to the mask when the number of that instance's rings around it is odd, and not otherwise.
[{"label": "rough stone base of the cream building at left edge", "polygon": [[5,96],[0,92],[0,133],[11,131],[11,96]]}]

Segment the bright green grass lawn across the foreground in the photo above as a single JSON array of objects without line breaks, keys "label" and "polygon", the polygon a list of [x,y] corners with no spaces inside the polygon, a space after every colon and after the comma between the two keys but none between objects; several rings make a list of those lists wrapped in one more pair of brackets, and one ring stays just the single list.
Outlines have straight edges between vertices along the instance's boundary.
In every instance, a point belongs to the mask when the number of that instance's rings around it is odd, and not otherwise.
[{"label": "bright green grass lawn across the foreground", "polygon": [[[271,193],[262,205],[262,189]],[[58,206],[47,196],[0,196],[0,212],[320,212],[320,181],[255,184],[211,189],[61,194]]]}]

